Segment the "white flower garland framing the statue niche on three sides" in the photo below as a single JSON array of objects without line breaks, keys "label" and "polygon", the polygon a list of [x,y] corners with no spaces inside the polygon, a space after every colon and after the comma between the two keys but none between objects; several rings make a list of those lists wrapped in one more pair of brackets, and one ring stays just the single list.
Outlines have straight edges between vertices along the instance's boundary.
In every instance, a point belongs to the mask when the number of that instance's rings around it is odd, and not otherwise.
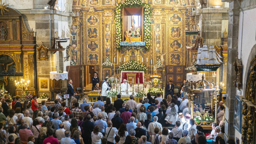
[{"label": "white flower garland framing the statue niche on three sides", "polygon": [[121,50],[120,42],[122,42],[122,11],[123,7],[140,7],[144,8],[144,17],[143,17],[143,32],[144,32],[144,42],[146,43],[146,49],[149,50],[150,48],[150,41],[151,41],[151,27],[150,27],[150,16],[151,10],[150,5],[142,3],[141,0],[125,0],[122,4],[116,4],[115,6],[115,45],[118,50]]}]

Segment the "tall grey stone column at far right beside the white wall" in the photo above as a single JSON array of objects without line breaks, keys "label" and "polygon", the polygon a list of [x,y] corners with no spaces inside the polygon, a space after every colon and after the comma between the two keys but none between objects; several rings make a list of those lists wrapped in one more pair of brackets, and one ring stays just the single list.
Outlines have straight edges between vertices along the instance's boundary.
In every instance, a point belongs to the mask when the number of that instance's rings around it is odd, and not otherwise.
[{"label": "tall grey stone column at far right beside the white wall", "polygon": [[[233,63],[238,54],[238,29],[240,6],[237,1],[229,3],[229,20],[228,20],[228,59],[227,59],[227,91],[225,111],[225,141],[235,139],[234,121],[234,103],[236,96],[236,87],[234,87],[235,71]],[[227,132],[227,133],[226,133]]]}]

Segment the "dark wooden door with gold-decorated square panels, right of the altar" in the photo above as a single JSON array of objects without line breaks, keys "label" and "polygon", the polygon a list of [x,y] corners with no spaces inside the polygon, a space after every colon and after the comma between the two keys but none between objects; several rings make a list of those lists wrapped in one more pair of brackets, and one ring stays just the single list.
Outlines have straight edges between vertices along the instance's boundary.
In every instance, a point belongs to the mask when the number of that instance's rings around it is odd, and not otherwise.
[{"label": "dark wooden door with gold-decorated square panels, right of the altar", "polygon": [[185,65],[166,65],[166,86],[171,80],[174,85],[181,87],[185,80]]}]

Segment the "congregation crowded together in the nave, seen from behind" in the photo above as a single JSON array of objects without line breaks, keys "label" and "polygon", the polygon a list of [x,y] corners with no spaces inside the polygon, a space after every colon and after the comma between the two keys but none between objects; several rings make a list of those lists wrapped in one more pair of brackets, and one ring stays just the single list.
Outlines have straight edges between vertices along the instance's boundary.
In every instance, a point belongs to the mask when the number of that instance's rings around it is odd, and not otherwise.
[{"label": "congregation crowded together in the nave, seen from behind", "polygon": [[[20,103],[20,96],[13,101],[5,97],[0,107],[0,144],[225,144],[224,141],[224,106],[220,102],[217,123],[212,123],[212,131],[203,133],[203,127],[197,126],[188,110],[188,97],[177,93],[161,98],[158,93],[152,98],[150,93],[137,104],[130,96],[124,102],[121,95],[111,104],[102,97],[87,104],[82,98],[66,102],[56,96],[53,106],[46,106],[42,101],[41,110],[33,96],[30,103]],[[198,104],[198,109],[205,106],[205,100]],[[171,127],[171,128],[170,128]],[[7,132],[8,131],[8,132]],[[227,141],[234,144],[234,140]]]}]

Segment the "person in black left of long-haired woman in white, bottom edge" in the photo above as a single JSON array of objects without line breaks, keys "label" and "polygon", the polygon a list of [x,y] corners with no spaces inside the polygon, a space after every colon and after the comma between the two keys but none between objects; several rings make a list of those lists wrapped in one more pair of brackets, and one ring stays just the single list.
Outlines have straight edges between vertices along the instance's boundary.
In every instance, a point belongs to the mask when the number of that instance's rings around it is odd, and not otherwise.
[{"label": "person in black left of long-haired woman in white, bottom edge", "polygon": [[90,121],[91,115],[86,116],[86,121],[82,124],[82,130],[84,130],[84,144],[92,143],[91,133],[94,129],[94,123]]}]

